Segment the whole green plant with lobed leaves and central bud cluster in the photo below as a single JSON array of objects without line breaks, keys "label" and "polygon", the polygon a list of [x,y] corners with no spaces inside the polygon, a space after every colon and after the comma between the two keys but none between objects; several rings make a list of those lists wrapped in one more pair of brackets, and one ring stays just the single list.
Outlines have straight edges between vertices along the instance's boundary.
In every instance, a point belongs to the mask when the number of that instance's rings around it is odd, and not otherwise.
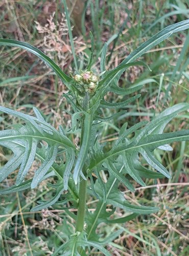
[{"label": "whole green plant with lobed leaves and central bud cluster", "polygon": [[[128,96],[141,89],[143,82],[127,89],[117,86],[122,73],[127,68],[136,65],[148,68],[144,62],[135,60],[173,33],[187,28],[189,28],[188,19],[163,29],[139,46],[111,71],[105,68],[107,51],[105,44],[102,49],[99,76],[91,71],[94,50],[92,35],[88,67],[73,77],[63,73],[55,62],[39,49],[25,42],[0,39],[0,45],[20,47],[37,55],[53,69],[69,90],[67,94],[64,94],[73,108],[73,113],[69,113],[72,116],[72,129],[68,131],[64,131],[61,125],[57,131],[45,121],[36,108],[34,108],[36,117],[33,117],[3,106],[0,107],[0,111],[24,121],[23,125],[0,132],[0,145],[13,152],[13,157],[0,169],[0,180],[3,181],[20,166],[16,185],[1,190],[0,194],[35,188],[41,181],[53,176],[56,183],[49,184],[49,186],[55,189],[55,196],[48,201],[38,201],[38,205],[32,211],[53,205],[57,209],[65,209],[67,214],[76,221],[75,230],[65,223],[65,243],[60,245],[53,255],[62,253],[64,255],[85,255],[85,253],[90,253],[92,247],[105,255],[110,255],[105,245],[119,236],[123,229],[117,226],[117,230],[110,237],[102,239],[96,233],[100,223],[124,223],[137,215],[150,214],[158,210],[151,206],[128,203],[119,190],[119,182],[134,191],[129,177],[142,186],[145,186],[142,178],[156,179],[164,176],[171,178],[168,170],[153,156],[153,151],[155,148],[172,150],[169,143],[189,140],[188,130],[163,134],[167,123],[179,112],[188,109],[189,104],[176,104],[154,117],[149,123],[142,121],[129,128],[125,123],[121,128],[119,138],[111,145],[111,148],[99,142],[100,125],[102,122],[108,122],[123,114],[123,111],[107,118],[101,115],[104,108],[114,110],[126,108],[130,102],[140,97],[136,94],[115,103],[107,102],[104,98],[108,92]],[[81,131],[79,150],[69,139],[70,134],[74,135],[76,131]],[[158,173],[141,165],[141,156]],[[35,157],[40,159],[42,164],[36,170],[33,179],[25,181]],[[56,163],[57,157],[61,164]],[[107,178],[106,183],[103,180],[104,175]],[[98,199],[96,211],[93,214],[86,207],[87,194]],[[78,209],[77,216],[66,209],[68,203],[71,208]],[[107,205],[112,205],[113,209],[106,211]],[[123,208],[131,214],[124,218],[112,219],[116,207]]]}]

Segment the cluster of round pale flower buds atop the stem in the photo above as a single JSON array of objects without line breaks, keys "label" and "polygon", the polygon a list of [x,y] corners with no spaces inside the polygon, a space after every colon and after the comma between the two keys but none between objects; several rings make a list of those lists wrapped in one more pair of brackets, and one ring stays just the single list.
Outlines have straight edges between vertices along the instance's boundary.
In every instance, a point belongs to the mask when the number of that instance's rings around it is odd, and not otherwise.
[{"label": "cluster of round pale flower buds atop the stem", "polygon": [[98,87],[98,77],[92,71],[82,71],[80,75],[75,75],[74,80],[82,86],[85,92],[95,93]]}]

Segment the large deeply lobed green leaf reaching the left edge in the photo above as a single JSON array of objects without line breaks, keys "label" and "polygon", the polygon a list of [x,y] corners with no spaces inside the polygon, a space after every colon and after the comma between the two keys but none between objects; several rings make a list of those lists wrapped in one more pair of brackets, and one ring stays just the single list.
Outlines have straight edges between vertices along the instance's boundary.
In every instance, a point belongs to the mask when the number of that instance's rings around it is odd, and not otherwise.
[{"label": "large deeply lobed green leaf reaching the left edge", "polygon": [[[0,106],[0,111],[19,117],[26,122],[26,125],[15,126],[12,130],[0,132],[0,145],[13,151],[13,157],[0,168],[1,181],[14,172],[21,164],[16,179],[16,185],[18,186],[16,191],[23,187],[28,187],[28,183],[25,186],[25,182],[22,181],[29,172],[35,156],[37,156],[42,161],[42,164],[36,170],[34,178],[30,182],[31,188],[36,187],[44,178],[48,178],[49,170],[53,169],[51,174],[56,175],[58,179],[65,179],[64,185],[67,189],[68,178],[74,164],[75,152],[73,143],[66,137],[62,127],[60,127],[60,132],[58,132],[53,126],[44,121],[40,112],[35,108],[34,112],[37,118],[9,110],[2,106]],[[48,145],[44,146],[41,141],[47,142]],[[41,148],[37,146],[39,143],[42,146]],[[67,148],[67,152],[69,152],[65,166],[55,164],[59,146]],[[11,191],[14,191],[14,188]],[[6,193],[6,191],[3,193]],[[74,198],[77,198],[72,189],[71,193]],[[52,202],[54,203],[57,198],[58,196]]]}]

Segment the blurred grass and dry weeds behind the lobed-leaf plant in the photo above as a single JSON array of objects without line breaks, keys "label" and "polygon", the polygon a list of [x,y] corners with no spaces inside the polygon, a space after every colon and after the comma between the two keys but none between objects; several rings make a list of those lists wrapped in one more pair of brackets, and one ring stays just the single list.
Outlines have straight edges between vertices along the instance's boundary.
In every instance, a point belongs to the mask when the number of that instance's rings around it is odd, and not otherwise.
[{"label": "blurred grass and dry weeds behind the lobed-leaf plant", "polygon": [[[107,69],[117,66],[126,55],[141,42],[162,28],[189,18],[188,1],[73,1],[72,12],[74,46],[79,69],[88,59],[90,48],[89,31],[95,37],[95,59],[93,70],[100,73],[99,56],[105,41],[108,42]],[[68,3],[69,5],[69,3]],[[81,12],[82,10],[82,12]],[[80,18],[80,19],[79,19]],[[81,20],[81,26],[79,20]],[[0,37],[29,42],[39,47],[61,66],[67,74],[74,73],[74,59],[68,37],[63,4],[60,1],[2,0],[0,3]],[[129,106],[130,111],[116,120],[119,127],[126,121],[129,126],[135,122],[150,119],[179,102],[188,102],[188,31],[174,34],[158,47],[150,50],[141,59],[145,60],[151,72],[141,67],[131,67],[123,76],[121,87],[146,80],[137,103]],[[70,127],[70,116],[63,109],[70,110],[62,93],[64,85],[52,71],[37,57],[18,48],[0,48],[0,102],[8,108],[32,114],[33,106],[40,108],[56,128],[61,123]],[[85,67],[85,66],[84,66]],[[154,79],[156,82],[152,82]],[[116,99],[109,94],[109,101]],[[105,113],[108,114],[108,113]],[[178,115],[167,131],[189,129],[189,113]],[[115,120],[114,120],[115,121]],[[3,130],[19,121],[1,115]],[[103,141],[111,143],[119,130],[109,122],[102,128]],[[109,134],[114,134],[110,137]],[[72,138],[77,144],[78,138]],[[112,255],[184,255],[189,250],[188,212],[188,142],[175,143],[172,152],[155,151],[156,158],[172,174],[172,179],[146,180],[146,188],[136,192],[122,187],[124,196],[130,202],[159,207],[157,214],[141,216],[129,221],[123,227],[125,232],[110,243]],[[1,165],[10,158],[11,152],[0,147]],[[33,176],[39,161],[36,159],[30,175]],[[1,184],[7,187],[15,182],[14,175]],[[49,179],[49,182],[51,180]],[[66,211],[45,209],[30,212],[38,199],[46,194],[46,181],[38,189],[1,197],[0,205],[0,255],[51,255],[63,242]],[[52,192],[53,193],[53,192]],[[49,193],[48,195],[51,195]],[[95,204],[88,205],[92,211]],[[124,216],[124,210],[117,210],[117,217]],[[69,218],[69,217],[68,217]],[[117,225],[117,224],[116,224]],[[100,225],[101,233],[109,234],[112,225]],[[152,246],[153,243],[153,246]],[[155,245],[155,246],[154,246]],[[35,249],[36,253],[32,254]],[[94,255],[99,254],[94,252]],[[91,254],[92,255],[92,254]]]}]

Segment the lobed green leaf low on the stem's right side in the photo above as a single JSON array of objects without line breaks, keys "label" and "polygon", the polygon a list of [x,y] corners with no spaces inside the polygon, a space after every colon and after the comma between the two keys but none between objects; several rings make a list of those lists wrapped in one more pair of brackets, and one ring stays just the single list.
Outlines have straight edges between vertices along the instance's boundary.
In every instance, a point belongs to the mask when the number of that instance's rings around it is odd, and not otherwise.
[{"label": "lobed green leaf low on the stem's right side", "polygon": [[[115,168],[119,169],[117,164],[115,164]],[[126,199],[124,198],[123,193],[118,188],[118,183],[119,181],[117,180],[117,178],[110,173],[108,181],[107,183],[105,183],[107,196],[106,196],[106,203],[104,203],[103,201],[104,192],[102,190],[102,186],[99,183],[99,179],[96,180],[94,187],[100,199],[99,199],[99,202],[97,203],[95,212],[93,213],[88,211],[86,212],[86,223],[87,223],[86,233],[87,233],[88,240],[93,240],[93,241],[97,241],[100,244],[101,243],[104,244],[106,240],[102,241],[102,238],[100,240],[100,237],[102,237],[101,234],[98,237],[96,233],[97,226],[102,222],[107,224],[123,223],[123,221],[129,221],[135,218],[138,214],[149,214],[158,210],[158,208],[156,207],[133,205],[127,202]],[[109,212],[106,211],[107,205],[112,205],[113,207],[112,211],[109,211]],[[115,207],[120,207],[122,209],[125,209],[126,212],[127,211],[133,212],[133,214],[131,214],[128,217],[123,217],[123,219],[122,218],[115,219],[114,221],[114,219],[112,219],[112,215],[115,211]],[[110,216],[111,216],[111,220],[110,220]]]}]

